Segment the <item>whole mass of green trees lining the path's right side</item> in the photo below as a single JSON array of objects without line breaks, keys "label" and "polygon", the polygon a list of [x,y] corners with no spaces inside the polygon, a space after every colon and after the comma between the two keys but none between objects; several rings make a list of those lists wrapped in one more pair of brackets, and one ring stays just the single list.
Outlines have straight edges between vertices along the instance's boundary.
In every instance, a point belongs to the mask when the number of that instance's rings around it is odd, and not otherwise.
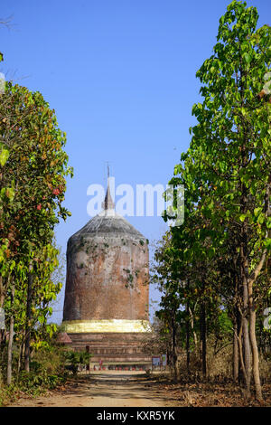
[{"label": "whole mass of green trees lining the path's right side", "polygon": [[165,324],[185,307],[188,368],[195,317],[206,376],[206,338],[221,333],[227,313],[234,379],[249,396],[252,374],[260,400],[258,341],[267,333],[263,309],[270,302],[271,31],[257,29],[257,18],[255,7],[233,1],[213,54],[196,73],[198,123],[170,182],[185,186],[185,221],[156,250],[154,277],[164,292]]}]

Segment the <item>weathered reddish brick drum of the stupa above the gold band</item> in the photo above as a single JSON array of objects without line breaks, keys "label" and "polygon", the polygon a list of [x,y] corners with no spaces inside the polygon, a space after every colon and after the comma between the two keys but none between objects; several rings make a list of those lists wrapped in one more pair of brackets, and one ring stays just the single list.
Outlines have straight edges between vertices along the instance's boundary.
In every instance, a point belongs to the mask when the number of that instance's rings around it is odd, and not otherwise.
[{"label": "weathered reddish brick drum of the stupa above the gold band", "polygon": [[145,238],[122,217],[97,217],[68,242],[63,320],[148,319]]}]

